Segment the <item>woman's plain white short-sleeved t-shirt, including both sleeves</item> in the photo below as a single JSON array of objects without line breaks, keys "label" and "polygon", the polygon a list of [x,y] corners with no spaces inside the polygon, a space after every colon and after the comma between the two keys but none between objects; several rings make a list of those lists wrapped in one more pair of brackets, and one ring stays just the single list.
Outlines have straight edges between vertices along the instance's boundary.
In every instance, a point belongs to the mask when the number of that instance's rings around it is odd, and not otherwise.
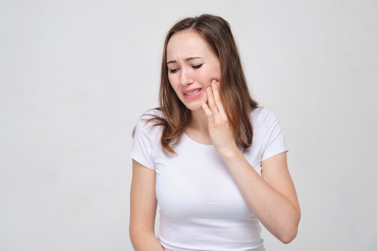
[{"label": "woman's plain white short-sleeved t-shirt, including both sleeves", "polygon": [[[163,117],[151,109],[144,114]],[[235,181],[213,145],[200,144],[183,133],[169,157],[160,145],[161,127],[149,127],[141,116],[130,156],[156,171],[160,206],[158,239],[165,251],[264,251],[259,220],[247,206]],[[252,146],[243,156],[261,175],[261,162],[288,151],[277,116],[254,109]],[[241,152],[243,148],[238,145]]]}]

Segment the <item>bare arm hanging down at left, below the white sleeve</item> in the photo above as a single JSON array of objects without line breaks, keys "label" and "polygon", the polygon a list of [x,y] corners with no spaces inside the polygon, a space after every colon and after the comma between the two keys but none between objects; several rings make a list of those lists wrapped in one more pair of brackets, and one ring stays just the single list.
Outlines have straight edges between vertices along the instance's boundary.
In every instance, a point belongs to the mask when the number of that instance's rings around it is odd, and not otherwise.
[{"label": "bare arm hanging down at left, below the white sleeve", "polygon": [[155,235],[156,171],[132,160],[130,239],[135,251],[164,251]]}]

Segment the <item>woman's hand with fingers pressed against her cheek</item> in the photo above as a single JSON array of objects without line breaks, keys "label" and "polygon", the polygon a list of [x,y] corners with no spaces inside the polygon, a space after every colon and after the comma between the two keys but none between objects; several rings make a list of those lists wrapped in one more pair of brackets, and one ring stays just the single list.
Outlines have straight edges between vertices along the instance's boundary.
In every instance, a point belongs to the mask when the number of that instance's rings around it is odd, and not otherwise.
[{"label": "woman's hand with fingers pressed against her cheek", "polygon": [[239,151],[236,145],[235,130],[228,121],[220,100],[219,82],[212,80],[212,88],[207,87],[208,105],[202,101],[202,108],[207,115],[208,130],[215,150],[220,155]]}]

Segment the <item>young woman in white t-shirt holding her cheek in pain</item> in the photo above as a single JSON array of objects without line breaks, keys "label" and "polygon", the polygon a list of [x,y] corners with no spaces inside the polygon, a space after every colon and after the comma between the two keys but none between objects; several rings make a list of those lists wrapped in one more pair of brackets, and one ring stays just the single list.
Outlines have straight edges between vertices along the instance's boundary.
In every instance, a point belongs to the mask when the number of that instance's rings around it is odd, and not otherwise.
[{"label": "young woman in white t-shirt holding her cheek in pain", "polygon": [[250,97],[224,19],[203,14],[169,30],[159,103],[138,119],[130,151],[135,251],[264,251],[259,222],[290,243],[300,208],[285,137]]}]

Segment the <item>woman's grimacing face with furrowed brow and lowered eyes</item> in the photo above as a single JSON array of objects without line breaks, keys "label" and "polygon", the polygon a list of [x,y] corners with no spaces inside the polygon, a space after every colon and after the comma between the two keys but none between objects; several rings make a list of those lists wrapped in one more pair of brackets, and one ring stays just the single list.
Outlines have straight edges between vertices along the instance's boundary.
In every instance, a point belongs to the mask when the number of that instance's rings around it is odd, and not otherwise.
[{"label": "woman's grimacing face with furrowed brow and lowered eyes", "polygon": [[174,33],[167,43],[166,62],[178,98],[190,110],[201,109],[201,101],[207,102],[206,88],[220,79],[220,61],[206,40],[192,30]]}]

